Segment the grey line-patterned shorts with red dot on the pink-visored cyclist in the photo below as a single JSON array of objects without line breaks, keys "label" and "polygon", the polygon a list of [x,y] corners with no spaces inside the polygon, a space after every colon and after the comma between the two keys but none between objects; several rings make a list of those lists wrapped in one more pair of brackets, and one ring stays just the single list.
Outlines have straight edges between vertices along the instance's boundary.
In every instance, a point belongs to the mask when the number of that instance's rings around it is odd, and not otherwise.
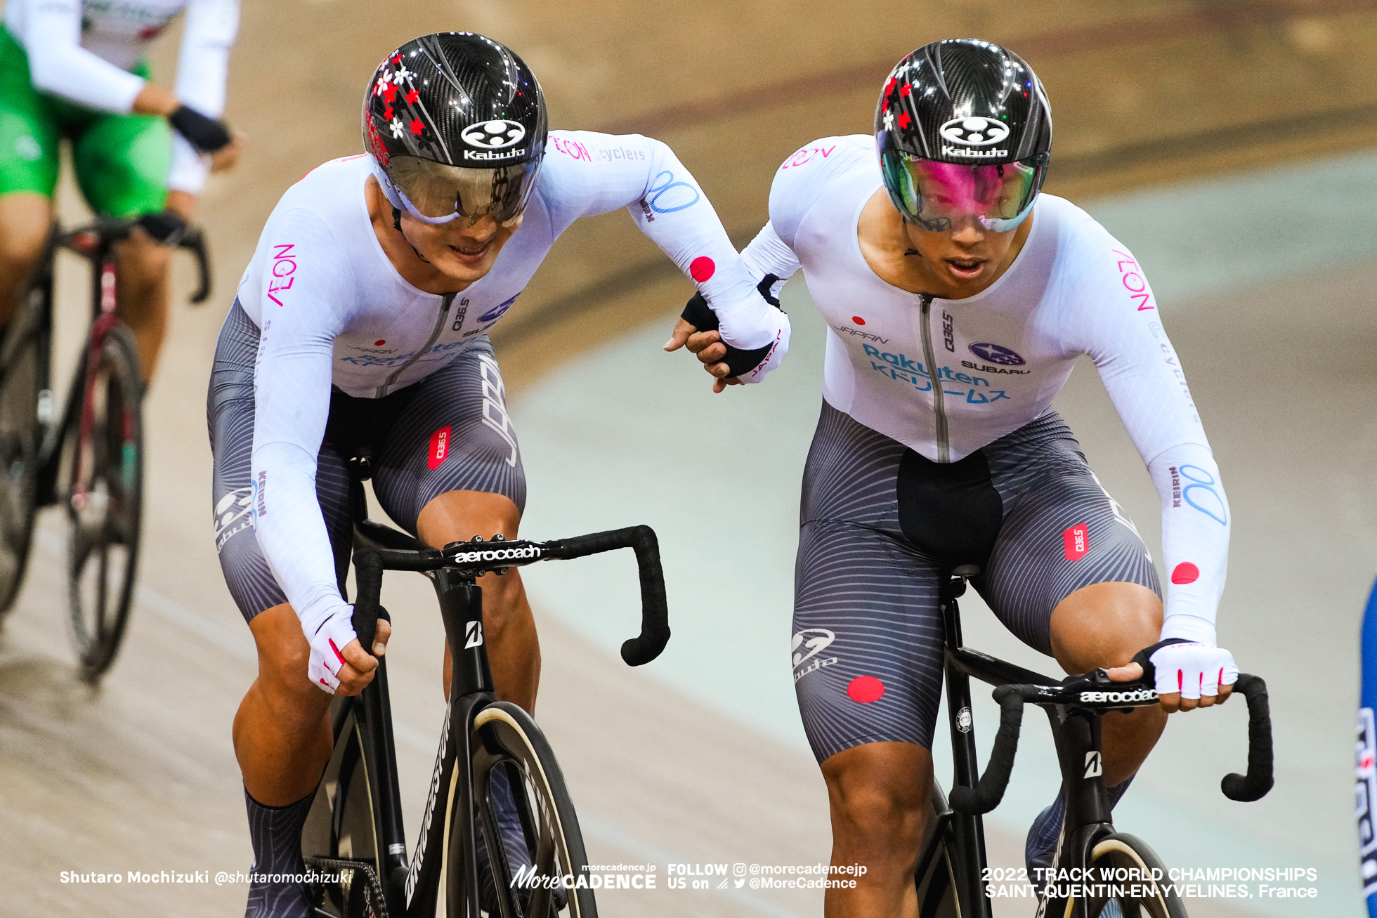
[{"label": "grey line-patterned shorts with red dot on the pink-visored cyclist", "polygon": [[1052,610],[1153,559],[1055,412],[936,464],[823,402],[803,478],[793,679],[818,761],[873,742],[931,747],[942,696],[938,586],[958,564],[1000,621],[1049,654]]}]

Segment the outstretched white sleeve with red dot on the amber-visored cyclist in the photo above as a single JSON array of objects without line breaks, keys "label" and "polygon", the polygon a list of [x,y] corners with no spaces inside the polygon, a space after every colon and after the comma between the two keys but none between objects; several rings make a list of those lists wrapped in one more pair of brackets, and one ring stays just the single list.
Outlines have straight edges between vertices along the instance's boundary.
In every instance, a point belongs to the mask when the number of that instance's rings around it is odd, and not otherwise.
[{"label": "outstretched white sleeve with red dot on the amber-visored cyclist", "polygon": [[580,216],[627,208],[698,286],[724,341],[753,350],[777,339],[778,310],[756,292],[708,195],[666,145],[639,134],[552,131],[543,168],[551,167],[554,180],[543,184],[556,233]]}]

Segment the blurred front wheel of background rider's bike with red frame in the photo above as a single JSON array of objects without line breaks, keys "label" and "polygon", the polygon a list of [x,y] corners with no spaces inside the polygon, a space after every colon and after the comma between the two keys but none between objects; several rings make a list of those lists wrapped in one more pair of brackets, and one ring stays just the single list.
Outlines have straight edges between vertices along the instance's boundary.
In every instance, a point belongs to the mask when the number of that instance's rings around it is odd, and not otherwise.
[{"label": "blurred front wheel of background rider's bike with red frame", "polygon": [[78,384],[63,432],[67,597],[81,677],[95,683],[129,618],[143,509],[143,381],[123,322],[105,328]]}]

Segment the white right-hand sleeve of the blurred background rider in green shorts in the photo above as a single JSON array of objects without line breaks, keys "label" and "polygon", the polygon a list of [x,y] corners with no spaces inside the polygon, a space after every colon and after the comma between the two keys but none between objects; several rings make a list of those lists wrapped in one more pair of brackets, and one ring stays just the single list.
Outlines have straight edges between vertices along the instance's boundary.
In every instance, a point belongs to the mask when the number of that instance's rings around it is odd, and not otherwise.
[{"label": "white right-hand sleeve of the blurred background rider in green shorts", "polygon": [[[238,0],[191,0],[186,7],[176,95],[207,117],[219,118],[224,113],[224,81],[238,29]],[[200,194],[209,171],[211,157],[197,153],[186,138],[174,131],[168,189]]]}]

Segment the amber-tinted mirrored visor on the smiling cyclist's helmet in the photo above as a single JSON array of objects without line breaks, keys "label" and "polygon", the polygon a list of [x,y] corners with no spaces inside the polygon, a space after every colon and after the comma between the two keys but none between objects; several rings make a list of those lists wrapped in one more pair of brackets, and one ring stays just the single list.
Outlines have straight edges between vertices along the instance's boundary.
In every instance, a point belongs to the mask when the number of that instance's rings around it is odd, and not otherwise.
[{"label": "amber-tinted mirrored visor on the smiling cyclist's helmet", "polygon": [[448,223],[460,216],[476,220],[486,215],[498,223],[515,220],[526,206],[538,171],[540,160],[467,169],[413,156],[394,156],[387,167],[406,209],[427,223]]}]

